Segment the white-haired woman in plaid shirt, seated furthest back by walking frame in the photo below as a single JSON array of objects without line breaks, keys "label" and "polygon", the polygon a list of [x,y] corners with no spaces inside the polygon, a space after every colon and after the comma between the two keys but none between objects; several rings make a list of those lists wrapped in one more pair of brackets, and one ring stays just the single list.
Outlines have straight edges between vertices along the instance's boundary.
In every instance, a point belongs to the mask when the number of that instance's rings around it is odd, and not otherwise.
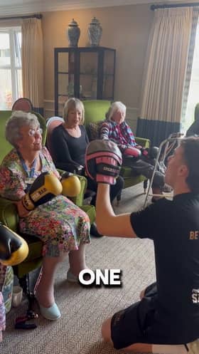
[{"label": "white-haired woman in plaid shirt, seated furthest back by walking frame", "polygon": [[[147,150],[137,145],[134,134],[125,121],[126,106],[122,102],[114,102],[110,106],[106,120],[101,125],[100,138],[112,140],[117,144],[122,152],[124,165],[134,170],[138,175],[144,175],[151,179],[154,172],[155,160],[151,157]],[[154,194],[161,194],[170,191],[169,187],[164,184],[163,171],[156,171],[152,184]],[[152,199],[154,202],[156,197]]]}]

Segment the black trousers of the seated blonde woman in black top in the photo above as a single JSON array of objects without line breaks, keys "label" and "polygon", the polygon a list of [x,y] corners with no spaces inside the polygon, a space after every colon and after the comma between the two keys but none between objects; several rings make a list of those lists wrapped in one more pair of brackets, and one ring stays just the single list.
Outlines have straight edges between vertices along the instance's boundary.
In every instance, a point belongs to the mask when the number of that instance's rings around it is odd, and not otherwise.
[{"label": "black trousers of the seated blonde woman in black top", "polygon": [[[97,182],[95,182],[93,179],[90,177],[87,177],[87,188],[93,190],[94,192],[97,193]],[[116,179],[116,184],[110,186],[110,201],[112,202],[114,198],[117,197],[122,192],[122,189],[124,188],[124,179],[121,176],[118,176]],[[92,197],[92,200],[90,204],[95,205],[96,202],[96,195],[95,197]]]}]

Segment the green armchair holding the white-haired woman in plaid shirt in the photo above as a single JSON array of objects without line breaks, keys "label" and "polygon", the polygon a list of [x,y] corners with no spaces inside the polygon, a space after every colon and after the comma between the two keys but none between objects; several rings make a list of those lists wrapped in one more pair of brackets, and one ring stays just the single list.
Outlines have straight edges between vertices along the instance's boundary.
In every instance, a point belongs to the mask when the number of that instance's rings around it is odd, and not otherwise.
[{"label": "green armchair holding the white-haired woman in plaid shirt", "polygon": [[[105,114],[110,106],[109,100],[83,100],[85,106],[85,127],[87,129],[88,136],[90,139],[91,130],[95,130],[97,123],[104,120]],[[136,137],[137,144],[143,147],[149,147],[150,140],[144,139],[142,137]],[[134,186],[140,182],[144,182],[144,192],[146,192],[147,179],[142,175],[135,175],[130,167],[122,165],[120,175],[124,178],[124,188]]]}]

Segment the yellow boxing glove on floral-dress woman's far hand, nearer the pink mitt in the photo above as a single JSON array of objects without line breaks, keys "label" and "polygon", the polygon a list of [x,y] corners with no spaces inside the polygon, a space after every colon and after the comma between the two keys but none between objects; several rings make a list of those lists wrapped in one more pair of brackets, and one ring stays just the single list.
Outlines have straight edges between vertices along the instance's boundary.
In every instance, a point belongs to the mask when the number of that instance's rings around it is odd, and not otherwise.
[{"label": "yellow boxing glove on floral-dress woman's far hand, nearer the pink mitt", "polygon": [[63,186],[62,194],[65,197],[77,197],[81,191],[80,179],[70,172],[64,172],[61,177],[61,184]]}]

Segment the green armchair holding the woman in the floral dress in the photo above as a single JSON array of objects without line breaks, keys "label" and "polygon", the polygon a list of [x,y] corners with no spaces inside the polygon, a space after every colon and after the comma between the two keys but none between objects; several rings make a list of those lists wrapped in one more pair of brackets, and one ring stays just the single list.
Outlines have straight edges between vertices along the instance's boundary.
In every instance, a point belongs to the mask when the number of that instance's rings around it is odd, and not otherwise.
[{"label": "green armchair holding the woman in the floral dress", "polygon": [[[11,150],[11,145],[6,141],[4,137],[6,120],[11,116],[12,111],[0,110],[0,163],[5,157],[5,155]],[[46,137],[46,124],[45,119],[39,114],[35,113],[38,117],[39,123],[43,129],[43,145],[45,144]],[[77,204],[81,209],[87,212],[90,217],[90,222],[95,221],[95,207],[91,205],[83,205],[83,197],[85,194],[85,189],[87,187],[87,179],[85,177],[79,176],[81,182],[80,194],[75,198],[71,198],[72,202]],[[18,213],[16,210],[16,205],[8,199],[0,197],[0,222],[8,226],[10,229],[18,232]],[[42,261],[42,242],[36,236],[22,235],[24,239],[28,242],[29,254],[28,257],[18,266],[14,266],[14,274],[21,281],[21,285],[26,285],[26,275],[38,269],[41,266]],[[24,288],[24,290],[27,290]]]}]

